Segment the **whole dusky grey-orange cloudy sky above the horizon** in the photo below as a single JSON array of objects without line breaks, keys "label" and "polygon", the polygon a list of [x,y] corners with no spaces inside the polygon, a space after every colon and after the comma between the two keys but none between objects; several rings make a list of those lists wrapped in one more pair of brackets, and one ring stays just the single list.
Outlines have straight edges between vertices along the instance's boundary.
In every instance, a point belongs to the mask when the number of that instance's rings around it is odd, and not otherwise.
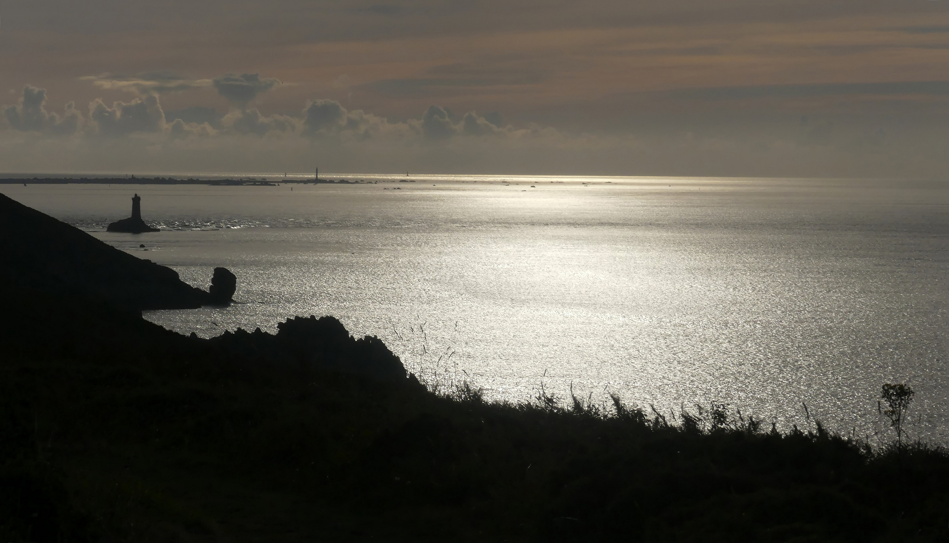
[{"label": "whole dusky grey-orange cloudy sky above the horizon", "polygon": [[947,9],[0,3],[0,172],[941,178]]}]

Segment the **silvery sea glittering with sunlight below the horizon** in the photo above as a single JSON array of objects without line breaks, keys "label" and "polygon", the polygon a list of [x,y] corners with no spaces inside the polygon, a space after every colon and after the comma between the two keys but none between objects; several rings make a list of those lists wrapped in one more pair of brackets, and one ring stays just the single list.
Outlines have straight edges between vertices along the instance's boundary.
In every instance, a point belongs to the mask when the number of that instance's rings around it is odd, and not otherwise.
[{"label": "silvery sea glittering with sunlight below the horizon", "polygon": [[[144,313],[182,334],[332,315],[441,391],[726,404],[874,445],[895,437],[881,386],[905,383],[910,439],[949,443],[949,180],[162,176],[273,186],[0,192],[196,287],[233,271],[229,307]],[[105,232],[134,194],[160,232]]]}]

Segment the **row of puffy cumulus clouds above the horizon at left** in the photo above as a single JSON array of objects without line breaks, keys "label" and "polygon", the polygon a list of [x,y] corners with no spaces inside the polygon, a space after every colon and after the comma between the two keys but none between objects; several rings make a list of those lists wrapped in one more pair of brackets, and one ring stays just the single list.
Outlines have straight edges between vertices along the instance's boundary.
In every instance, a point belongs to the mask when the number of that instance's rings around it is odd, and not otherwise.
[{"label": "row of puffy cumulus clouds above the horizon at left", "polygon": [[[182,80],[176,79],[181,82]],[[154,79],[96,78],[103,88],[156,91]],[[191,106],[164,111],[158,94],[150,92],[130,102],[107,105],[102,99],[89,103],[83,113],[75,103],[67,103],[62,115],[47,111],[46,89],[26,86],[19,103],[3,106],[7,128],[32,134],[61,136],[99,136],[115,138],[129,134],[177,133],[201,136],[293,134],[301,138],[354,137],[369,139],[398,134],[421,140],[449,140],[455,136],[510,136],[518,134],[511,126],[500,126],[501,117],[487,117],[474,111],[453,119],[450,110],[431,106],[421,120],[388,122],[363,110],[347,110],[334,100],[311,100],[303,110],[291,114],[264,115],[250,103],[260,94],[280,84],[278,80],[261,78],[259,74],[227,74],[212,80],[216,92],[233,104],[232,110],[221,114],[213,107]],[[196,87],[198,84],[190,84]],[[489,119],[491,121],[489,121]],[[496,122],[493,123],[492,121]]]}]

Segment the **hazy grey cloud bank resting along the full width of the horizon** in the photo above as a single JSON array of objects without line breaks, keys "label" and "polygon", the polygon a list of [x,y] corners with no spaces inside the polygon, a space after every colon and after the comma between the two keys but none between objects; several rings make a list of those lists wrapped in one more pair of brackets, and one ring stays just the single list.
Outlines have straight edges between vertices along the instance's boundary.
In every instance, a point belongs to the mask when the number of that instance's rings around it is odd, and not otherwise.
[{"label": "hazy grey cloud bank resting along the full width of the horizon", "polygon": [[[30,96],[28,103],[35,103]],[[387,122],[332,101],[310,101],[295,115],[235,110],[215,129],[162,120],[158,97],[92,104],[95,119],[76,137],[48,138],[11,125],[0,130],[0,160],[27,172],[307,171],[317,162],[337,172],[404,167],[433,174],[906,177],[939,176],[949,167],[941,144],[949,138],[944,118],[927,119],[926,130],[813,114],[773,127],[735,118],[732,129],[690,118],[688,132],[679,124],[661,133],[568,135],[502,127],[493,114],[456,117],[437,105],[414,119]],[[121,137],[128,134],[146,137]]]}]

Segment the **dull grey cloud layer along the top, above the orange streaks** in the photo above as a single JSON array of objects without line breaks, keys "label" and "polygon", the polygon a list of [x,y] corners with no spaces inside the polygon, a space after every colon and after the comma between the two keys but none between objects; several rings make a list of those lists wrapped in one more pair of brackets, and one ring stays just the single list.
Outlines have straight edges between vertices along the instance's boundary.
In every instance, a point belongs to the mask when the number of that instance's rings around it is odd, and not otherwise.
[{"label": "dull grey cloud layer along the top, above the orange streaks", "polygon": [[[914,13],[941,14],[939,2],[893,5],[865,0],[591,0],[582,4],[551,4],[536,0],[276,0],[245,2],[241,9],[228,9],[228,6],[220,1],[168,0],[158,5],[97,0],[86,6],[34,0],[8,3],[4,19],[9,15],[12,25],[17,27],[61,34],[131,32],[139,39],[144,32],[173,34],[176,38],[191,39],[207,47],[206,42],[229,39],[255,45],[257,41],[272,41],[284,38],[286,34],[295,36],[309,28],[319,28],[321,34],[328,34],[331,38],[353,40],[380,35],[485,32],[498,28],[655,27],[709,21],[810,21],[875,13],[889,18]],[[392,24],[394,17],[398,17],[399,25]],[[923,21],[923,24],[927,23]],[[234,31],[235,28],[257,31]],[[270,28],[282,31],[274,36],[267,31]],[[147,40],[141,41],[146,47],[149,45]]]}]

